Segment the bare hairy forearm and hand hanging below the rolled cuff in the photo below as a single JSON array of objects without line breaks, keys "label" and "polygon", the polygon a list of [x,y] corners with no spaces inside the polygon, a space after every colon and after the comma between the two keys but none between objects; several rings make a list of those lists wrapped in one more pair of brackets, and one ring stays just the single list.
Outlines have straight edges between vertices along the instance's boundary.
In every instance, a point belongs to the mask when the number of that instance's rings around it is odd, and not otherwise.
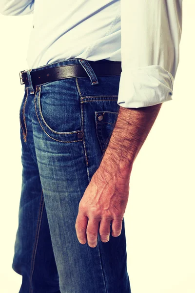
[{"label": "bare hairy forearm and hand hanging below the rolled cuff", "polygon": [[129,197],[133,162],[152,128],[162,104],[138,109],[120,107],[117,122],[100,166],[79,203],[75,228],[78,241],[97,246],[98,223],[102,242],[121,233]]}]

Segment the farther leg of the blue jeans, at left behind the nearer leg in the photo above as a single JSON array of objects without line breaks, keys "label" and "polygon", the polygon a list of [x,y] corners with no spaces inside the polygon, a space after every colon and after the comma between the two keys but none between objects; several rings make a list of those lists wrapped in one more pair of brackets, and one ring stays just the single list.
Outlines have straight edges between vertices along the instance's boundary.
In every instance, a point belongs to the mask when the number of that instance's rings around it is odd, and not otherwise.
[{"label": "farther leg of the blue jeans, at left behind the nearer leg", "polygon": [[59,275],[34,151],[28,94],[26,88],[20,107],[22,185],[12,268],[22,275],[20,293],[59,293]]}]

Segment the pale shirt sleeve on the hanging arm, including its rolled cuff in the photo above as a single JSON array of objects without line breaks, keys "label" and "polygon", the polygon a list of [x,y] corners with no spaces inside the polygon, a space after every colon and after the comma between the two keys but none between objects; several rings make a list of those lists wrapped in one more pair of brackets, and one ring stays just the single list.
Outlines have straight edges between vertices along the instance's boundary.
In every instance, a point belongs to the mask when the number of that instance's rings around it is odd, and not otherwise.
[{"label": "pale shirt sleeve on the hanging arm, including its rolled cuff", "polygon": [[117,104],[138,108],[172,100],[179,63],[182,0],[121,0]]}]

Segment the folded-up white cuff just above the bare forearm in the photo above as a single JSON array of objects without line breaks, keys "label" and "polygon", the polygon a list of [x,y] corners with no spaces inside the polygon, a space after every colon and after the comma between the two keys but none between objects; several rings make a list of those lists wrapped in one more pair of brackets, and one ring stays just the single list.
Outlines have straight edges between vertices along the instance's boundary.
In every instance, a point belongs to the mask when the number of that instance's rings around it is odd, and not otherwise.
[{"label": "folded-up white cuff just above the bare forearm", "polygon": [[172,74],[159,65],[125,68],[120,75],[117,104],[139,108],[170,101],[173,84]]}]

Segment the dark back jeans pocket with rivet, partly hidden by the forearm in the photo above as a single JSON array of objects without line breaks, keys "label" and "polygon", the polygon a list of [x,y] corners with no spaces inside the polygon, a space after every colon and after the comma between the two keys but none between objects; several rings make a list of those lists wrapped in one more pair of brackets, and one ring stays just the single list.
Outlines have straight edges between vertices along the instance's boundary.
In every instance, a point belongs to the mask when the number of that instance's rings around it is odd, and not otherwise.
[{"label": "dark back jeans pocket with rivet, partly hidden by the forearm", "polygon": [[105,152],[109,144],[111,135],[113,133],[117,121],[117,114],[117,112],[112,111],[95,112],[96,134],[98,137],[102,153]]}]

